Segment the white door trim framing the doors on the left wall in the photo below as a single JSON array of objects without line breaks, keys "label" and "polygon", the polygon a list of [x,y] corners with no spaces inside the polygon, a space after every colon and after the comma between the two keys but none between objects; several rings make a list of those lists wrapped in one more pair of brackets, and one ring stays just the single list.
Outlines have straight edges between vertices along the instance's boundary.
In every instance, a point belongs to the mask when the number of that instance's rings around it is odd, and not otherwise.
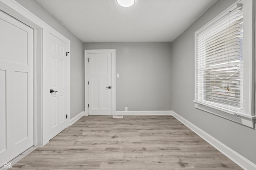
[{"label": "white door trim framing the doors on the left wall", "polygon": [[[49,140],[44,139],[43,129],[43,107],[42,107],[42,59],[45,57],[43,43],[45,42],[44,32],[50,31],[58,37],[67,39],[58,31],[50,27],[47,23],[32,14],[15,0],[0,0],[0,10],[18,21],[28,25],[34,31],[33,42],[33,128],[34,128],[34,146],[44,146]],[[70,52],[70,40],[68,41],[67,51]],[[67,56],[67,125],[70,125],[70,54]],[[17,155],[18,156],[18,155]]]}]

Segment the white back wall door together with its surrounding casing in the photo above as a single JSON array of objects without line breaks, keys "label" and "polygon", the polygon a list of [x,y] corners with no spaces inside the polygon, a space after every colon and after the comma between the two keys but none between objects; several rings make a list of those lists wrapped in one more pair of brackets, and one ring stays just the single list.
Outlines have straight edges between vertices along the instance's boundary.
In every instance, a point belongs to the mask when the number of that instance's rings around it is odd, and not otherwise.
[{"label": "white back wall door together with its surrounding casing", "polygon": [[85,50],[86,109],[89,115],[114,115],[115,50]]}]

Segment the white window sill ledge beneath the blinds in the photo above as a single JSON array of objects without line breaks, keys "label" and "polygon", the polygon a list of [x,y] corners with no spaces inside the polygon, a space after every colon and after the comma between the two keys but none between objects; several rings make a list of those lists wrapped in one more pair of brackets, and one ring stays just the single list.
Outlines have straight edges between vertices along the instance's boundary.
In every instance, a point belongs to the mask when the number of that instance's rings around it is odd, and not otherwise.
[{"label": "white window sill ledge beneath the blinds", "polygon": [[193,100],[193,102],[197,109],[206,111],[208,113],[217,115],[219,117],[228,119],[230,121],[234,121],[234,122],[242,124],[244,126],[256,129],[256,116],[243,115],[243,114],[236,113],[229,109],[222,109],[220,107],[214,107],[209,104],[197,102],[194,100]]}]

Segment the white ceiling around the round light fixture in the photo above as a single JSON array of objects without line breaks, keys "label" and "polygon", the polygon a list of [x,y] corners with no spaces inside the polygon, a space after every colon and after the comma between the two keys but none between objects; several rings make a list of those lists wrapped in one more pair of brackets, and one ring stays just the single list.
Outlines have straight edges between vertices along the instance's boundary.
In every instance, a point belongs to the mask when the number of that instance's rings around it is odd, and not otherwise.
[{"label": "white ceiling around the round light fixture", "polygon": [[217,0],[36,1],[83,42],[170,42]]}]

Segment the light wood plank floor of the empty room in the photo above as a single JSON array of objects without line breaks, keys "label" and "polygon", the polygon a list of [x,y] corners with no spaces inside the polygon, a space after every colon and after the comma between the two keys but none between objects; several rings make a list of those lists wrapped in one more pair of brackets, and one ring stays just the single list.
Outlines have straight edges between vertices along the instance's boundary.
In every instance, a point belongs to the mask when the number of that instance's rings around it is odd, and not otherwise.
[{"label": "light wood plank floor of the empty room", "polygon": [[241,168],[172,116],[84,116],[12,169]]}]

